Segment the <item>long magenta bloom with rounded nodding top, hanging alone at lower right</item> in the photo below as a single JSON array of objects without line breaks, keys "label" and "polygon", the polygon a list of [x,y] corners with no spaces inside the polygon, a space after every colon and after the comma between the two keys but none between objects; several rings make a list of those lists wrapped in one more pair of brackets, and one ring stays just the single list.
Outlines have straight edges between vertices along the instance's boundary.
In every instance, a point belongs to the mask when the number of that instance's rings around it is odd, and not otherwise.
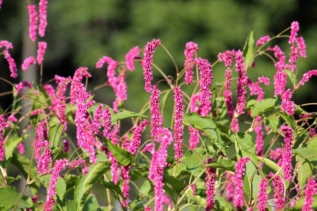
[{"label": "long magenta bloom with rounded nodding top, hanging alone at lower right", "polygon": [[292,144],[293,144],[293,130],[291,127],[283,125],[280,128],[284,135],[284,149],[282,155],[282,167],[284,177],[286,180],[291,181],[292,179]]}]

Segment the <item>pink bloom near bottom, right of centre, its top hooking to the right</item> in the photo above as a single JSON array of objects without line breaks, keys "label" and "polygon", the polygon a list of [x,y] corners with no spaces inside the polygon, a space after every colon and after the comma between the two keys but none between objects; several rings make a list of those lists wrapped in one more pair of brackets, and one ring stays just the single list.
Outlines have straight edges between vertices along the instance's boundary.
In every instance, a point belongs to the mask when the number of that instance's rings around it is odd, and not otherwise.
[{"label": "pink bloom near bottom, right of centre, its top hooking to the right", "polygon": [[246,162],[248,161],[249,161],[249,157],[240,158],[235,165],[236,174],[233,176],[234,186],[236,188],[234,193],[233,204],[235,207],[237,207],[240,210],[242,209],[242,206],[243,206],[243,195],[244,195],[242,178],[243,178],[243,175],[245,174]]}]

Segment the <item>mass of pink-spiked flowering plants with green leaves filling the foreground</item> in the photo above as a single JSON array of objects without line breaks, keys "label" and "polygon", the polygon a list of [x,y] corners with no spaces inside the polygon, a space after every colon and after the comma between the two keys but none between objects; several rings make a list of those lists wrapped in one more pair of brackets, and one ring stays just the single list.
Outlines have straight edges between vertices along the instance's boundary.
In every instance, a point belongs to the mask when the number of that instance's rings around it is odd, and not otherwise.
[{"label": "mass of pink-spiked flowering plants with green leaves filling the foreground", "polygon": [[[33,42],[37,34],[45,36],[47,3],[40,0],[39,13],[36,5],[28,6]],[[198,56],[197,43],[187,42],[181,70],[160,40],[148,42],[144,50],[133,47],[122,62],[104,56],[96,68],[106,69],[107,82],[100,87],[110,86],[115,92],[110,106],[94,100],[93,90],[87,88],[94,71],[86,67],[72,76],[55,75],[45,84],[42,78],[39,84],[12,84],[0,78],[13,87],[11,106],[0,112],[1,210],[316,210],[317,113],[306,112],[308,104],[296,105],[292,94],[317,76],[317,70],[298,81],[296,61],[306,57],[298,32],[294,21],[255,45],[251,32],[243,50],[219,53],[212,64]],[[291,45],[288,60],[279,46],[270,46],[279,38],[287,38]],[[42,77],[48,47],[38,42],[37,56],[26,58],[21,69],[37,64]],[[173,75],[166,76],[155,65],[158,47],[175,64]],[[9,54],[12,43],[0,41],[0,48],[11,77],[18,77]],[[269,98],[264,98],[262,86],[272,79],[248,77],[259,56],[269,57],[276,69],[271,70],[276,72],[275,91]],[[139,112],[124,108],[126,74],[140,71],[135,62],[142,64],[144,89],[151,93]],[[212,69],[222,62],[225,81],[213,83]],[[155,79],[153,71],[163,79]],[[162,84],[169,87],[160,90]],[[32,106],[23,113],[26,98]],[[168,104],[173,105],[171,117],[164,115]],[[123,119],[132,127],[122,127]],[[31,156],[24,152],[29,141]],[[17,177],[9,175],[11,166],[19,169]],[[24,182],[24,188],[10,185],[15,181]],[[106,203],[97,201],[92,191],[97,184],[105,188]],[[138,191],[137,196],[129,195],[130,188]]]}]

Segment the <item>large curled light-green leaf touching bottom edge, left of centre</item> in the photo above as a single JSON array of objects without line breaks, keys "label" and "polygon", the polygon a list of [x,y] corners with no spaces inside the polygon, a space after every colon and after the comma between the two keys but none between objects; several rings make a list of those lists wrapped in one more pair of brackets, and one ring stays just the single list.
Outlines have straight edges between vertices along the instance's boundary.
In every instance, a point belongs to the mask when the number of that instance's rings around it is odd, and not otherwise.
[{"label": "large curled light-green leaf touching bottom edge, left of centre", "polygon": [[78,179],[74,193],[77,211],[83,210],[91,189],[108,169],[108,163],[99,163],[89,168],[89,172]]}]

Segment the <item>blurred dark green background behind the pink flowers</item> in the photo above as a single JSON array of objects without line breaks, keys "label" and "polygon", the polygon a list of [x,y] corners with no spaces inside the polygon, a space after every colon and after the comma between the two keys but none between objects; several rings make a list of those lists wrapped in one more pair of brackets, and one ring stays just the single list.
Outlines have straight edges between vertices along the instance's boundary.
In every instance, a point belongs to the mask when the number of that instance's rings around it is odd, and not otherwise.
[{"label": "blurred dark green background behind the pink flowers", "polygon": [[[38,1],[34,0],[33,3],[38,4]],[[95,68],[96,62],[104,55],[124,61],[124,55],[130,48],[136,45],[143,48],[146,42],[155,38],[161,40],[182,69],[186,42],[198,43],[198,55],[213,63],[219,52],[242,50],[251,30],[254,30],[256,42],[262,36],[277,35],[294,20],[300,23],[299,35],[304,37],[307,44],[307,58],[299,58],[297,62],[300,80],[303,73],[317,68],[315,0],[49,0],[46,37],[38,38],[37,42],[48,43],[44,82],[55,74],[72,76],[79,66],[87,66],[93,75],[89,79],[91,90],[106,82],[105,70]],[[24,58],[36,55],[37,49],[37,43],[28,38],[26,0],[3,0],[0,29],[0,40],[8,40],[14,45],[10,52],[19,68],[19,78],[9,78],[8,65],[2,57],[0,77],[14,83],[28,77],[39,79],[38,67],[34,66],[33,72],[22,73],[21,70]],[[285,38],[279,39],[271,46],[280,45],[288,55],[290,45],[287,41]],[[174,65],[160,47],[155,52],[154,62],[166,75],[175,77]],[[224,70],[223,63],[214,67],[213,83],[224,81]],[[253,80],[260,76],[269,77],[271,84],[264,88],[265,97],[273,97],[275,72],[273,63],[261,56],[256,58],[256,67],[248,71],[248,76]],[[154,77],[154,83],[162,79],[157,71]],[[128,72],[126,78],[128,100],[124,108],[139,111],[150,96],[144,91],[141,65],[136,64],[136,71]],[[316,102],[316,84],[317,77],[300,87],[293,95],[295,103]],[[163,86],[160,85],[160,89],[164,89]],[[291,84],[288,87],[291,88]],[[10,85],[0,82],[0,92],[9,90]],[[97,102],[109,105],[115,98],[110,87],[103,87],[94,94]],[[9,95],[0,98],[3,108],[11,102]],[[316,107],[307,107],[306,110],[317,111]]]}]

